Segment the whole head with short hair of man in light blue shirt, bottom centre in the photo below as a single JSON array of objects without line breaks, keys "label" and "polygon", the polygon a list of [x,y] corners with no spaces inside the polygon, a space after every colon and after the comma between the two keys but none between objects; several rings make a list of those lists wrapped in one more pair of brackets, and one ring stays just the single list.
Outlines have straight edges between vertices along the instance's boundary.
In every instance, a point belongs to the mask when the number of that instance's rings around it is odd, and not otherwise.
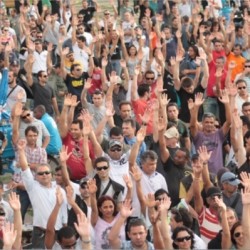
[{"label": "whole head with short hair of man in light blue shirt, bottom centre", "polygon": [[128,237],[134,248],[142,249],[146,243],[147,227],[142,219],[131,219],[128,223]]}]

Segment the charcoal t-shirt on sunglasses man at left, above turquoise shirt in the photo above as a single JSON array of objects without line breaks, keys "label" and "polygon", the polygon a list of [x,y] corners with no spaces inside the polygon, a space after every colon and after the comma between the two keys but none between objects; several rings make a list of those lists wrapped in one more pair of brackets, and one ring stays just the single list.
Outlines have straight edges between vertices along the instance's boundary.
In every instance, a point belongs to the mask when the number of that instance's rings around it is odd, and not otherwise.
[{"label": "charcoal t-shirt on sunglasses man at left, above turquoise shirt", "polygon": [[44,105],[46,112],[53,115],[52,98],[55,97],[55,92],[52,87],[48,84],[42,86],[39,83],[33,83],[31,89],[34,95],[34,107]]}]

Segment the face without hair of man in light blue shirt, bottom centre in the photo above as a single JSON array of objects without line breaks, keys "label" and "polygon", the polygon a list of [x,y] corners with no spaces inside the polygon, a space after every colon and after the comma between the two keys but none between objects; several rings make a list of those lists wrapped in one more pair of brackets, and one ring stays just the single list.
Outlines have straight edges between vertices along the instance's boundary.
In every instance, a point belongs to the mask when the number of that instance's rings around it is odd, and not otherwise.
[{"label": "face without hair of man in light blue shirt, bottom centre", "polygon": [[147,231],[144,226],[131,227],[128,236],[135,248],[142,248],[146,242]]}]

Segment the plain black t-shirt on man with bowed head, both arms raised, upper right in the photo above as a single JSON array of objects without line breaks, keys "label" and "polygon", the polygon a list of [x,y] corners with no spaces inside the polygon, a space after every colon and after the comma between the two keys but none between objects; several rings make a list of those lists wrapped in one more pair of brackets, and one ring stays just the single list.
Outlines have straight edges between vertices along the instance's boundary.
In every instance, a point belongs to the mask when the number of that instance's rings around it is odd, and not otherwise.
[{"label": "plain black t-shirt on man with bowed head, both arms raised, upper right", "polygon": [[[195,94],[198,92],[204,93],[205,89],[201,85],[197,86],[193,93],[188,93],[183,88],[181,88],[179,91],[177,91],[177,94],[181,100],[181,108],[179,112],[179,119],[183,122],[189,123],[190,122],[190,112],[188,109],[188,100],[193,99],[195,97]],[[202,112],[200,109],[199,112]],[[199,113],[198,120],[201,119],[202,114]]]}]

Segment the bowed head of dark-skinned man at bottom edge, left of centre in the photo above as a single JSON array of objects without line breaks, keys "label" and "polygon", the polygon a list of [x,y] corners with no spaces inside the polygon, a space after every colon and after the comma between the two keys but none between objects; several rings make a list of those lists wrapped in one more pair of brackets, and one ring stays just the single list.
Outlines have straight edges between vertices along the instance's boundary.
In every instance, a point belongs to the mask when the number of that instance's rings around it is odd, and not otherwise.
[{"label": "bowed head of dark-skinned man at bottom edge, left of centre", "polygon": [[57,232],[57,241],[62,249],[75,249],[76,246],[76,235],[72,227],[62,227]]}]

